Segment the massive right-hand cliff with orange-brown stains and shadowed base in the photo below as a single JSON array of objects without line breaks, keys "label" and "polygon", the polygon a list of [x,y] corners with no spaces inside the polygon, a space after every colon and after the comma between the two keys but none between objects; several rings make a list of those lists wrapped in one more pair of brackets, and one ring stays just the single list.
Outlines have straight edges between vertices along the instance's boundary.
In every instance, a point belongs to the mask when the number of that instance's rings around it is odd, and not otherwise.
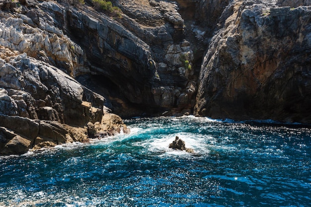
[{"label": "massive right-hand cliff with orange-brown stains and shadowed base", "polygon": [[233,1],[203,59],[197,116],[310,123],[311,7],[302,2]]}]

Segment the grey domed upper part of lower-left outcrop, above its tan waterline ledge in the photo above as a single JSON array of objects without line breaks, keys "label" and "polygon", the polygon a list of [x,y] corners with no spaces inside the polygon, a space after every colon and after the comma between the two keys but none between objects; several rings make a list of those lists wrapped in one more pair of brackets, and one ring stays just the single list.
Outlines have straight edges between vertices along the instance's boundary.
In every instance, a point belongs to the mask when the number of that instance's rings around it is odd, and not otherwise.
[{"label": "grey domed upper part of lower-left outcrop, above its tan waterline ledge", "polygon": [[3,114],[78,126],[101,120],[105,99],[58,68],[23,53],[2,60],[0,71]]}]

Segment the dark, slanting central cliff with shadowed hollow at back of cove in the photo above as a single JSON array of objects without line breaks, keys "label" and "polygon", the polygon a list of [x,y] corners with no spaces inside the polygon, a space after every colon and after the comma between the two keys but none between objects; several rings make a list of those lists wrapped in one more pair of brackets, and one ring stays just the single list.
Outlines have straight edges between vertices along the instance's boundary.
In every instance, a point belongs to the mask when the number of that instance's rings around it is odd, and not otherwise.
[{"label": "dark, slanting central cliff with shadowed hollow at back of cove", "polygon": [[74,39],[83,38],[90,71],[108,78],[123,99],[143,112],[155,108],[190,112],[196,92],[196,84],[190,83],[196,79],[191,69],[193,51],[185,40],[176,2],[115,3],[127,14],[118,22],[96,12],[68,11],[69,31]]}]

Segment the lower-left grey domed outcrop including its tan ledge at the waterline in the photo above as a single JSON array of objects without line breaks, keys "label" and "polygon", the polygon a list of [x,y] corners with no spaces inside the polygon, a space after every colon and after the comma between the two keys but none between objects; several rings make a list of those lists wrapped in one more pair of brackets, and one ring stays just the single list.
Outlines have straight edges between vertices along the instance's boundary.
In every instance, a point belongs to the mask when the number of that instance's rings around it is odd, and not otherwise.
[{"label": "lower-left grey domed outcrop including its tan ledge at the waterline", "polygon": [[[104,115],[102,96],[25,53],[0,59],[0,86],[0,155],[87,142],[90,137],[114,135],[121,129],[128,133],[120,117]],[[89,123],[100,134],[89,133]]]}]

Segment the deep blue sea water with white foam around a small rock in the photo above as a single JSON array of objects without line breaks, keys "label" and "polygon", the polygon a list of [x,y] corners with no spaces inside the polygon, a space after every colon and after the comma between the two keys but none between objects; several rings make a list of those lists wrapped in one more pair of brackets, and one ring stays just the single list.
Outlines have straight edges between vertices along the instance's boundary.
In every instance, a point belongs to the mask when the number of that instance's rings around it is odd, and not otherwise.
[{"label": "deep blue sea water with white foam around a small rock", "polygon": [[[125,121],[129,135],[0,157],[0,207],[310,207],[311,128]],[[175,136],[195,153],[168,148]]]}]

